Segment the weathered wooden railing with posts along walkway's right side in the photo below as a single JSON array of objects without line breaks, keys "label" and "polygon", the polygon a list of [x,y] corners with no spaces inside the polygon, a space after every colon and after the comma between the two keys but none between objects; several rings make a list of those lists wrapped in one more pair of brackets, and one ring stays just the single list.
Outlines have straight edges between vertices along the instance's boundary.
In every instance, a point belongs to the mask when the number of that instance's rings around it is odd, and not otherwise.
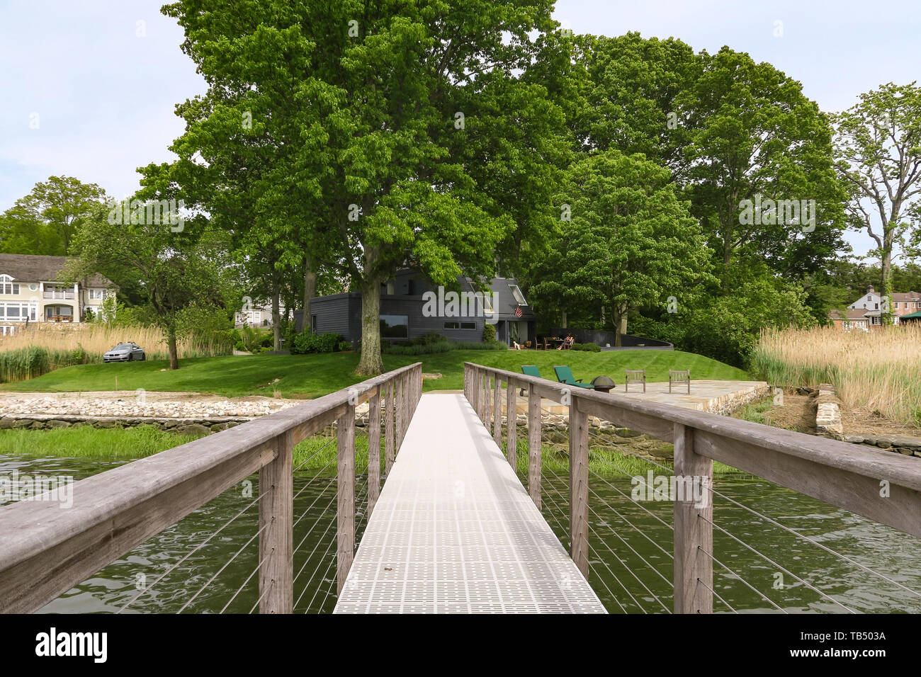
[{"label": "weathered wooden railing with posts along walkway's right side", "polygon": [[[570,555],[589,575],[589,416],[674,444],[674,474],[713,486],[720,461],[801,494],[921,536],[921,461],[771,426],[570,388],[548,379],[464,364],[464,394],[496,444],[502,444],[502,397],[515,421],[518,390],[528,397],[528,489],[541,507],[541,399],[569,407]],[[517,468],[517,430],[507,425],[507,457]],[[674,503],[674,611],[713,612],[713,500]]]}]

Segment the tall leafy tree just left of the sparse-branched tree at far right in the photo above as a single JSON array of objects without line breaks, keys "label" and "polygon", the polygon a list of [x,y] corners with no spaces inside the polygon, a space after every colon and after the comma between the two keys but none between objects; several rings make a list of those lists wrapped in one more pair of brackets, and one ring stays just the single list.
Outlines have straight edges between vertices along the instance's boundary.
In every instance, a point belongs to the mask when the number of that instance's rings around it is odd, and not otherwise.
[{"label": "tall leafy tree just left of the sparse-branched tree at far right", "polygon": [[[843,246],[845,193],[829,119],[771,64],[727,47],[703,59],[701,76],[679,97],[690,130],[682,152],[686,193],[717,251],[723,290],[744,276],[746,259],[791,277],[814,270]],[[746,218],[744,204],[756,200],[764,210]],[[813,222],[791,222],[768,206],[781,200],[814,204]]]}]

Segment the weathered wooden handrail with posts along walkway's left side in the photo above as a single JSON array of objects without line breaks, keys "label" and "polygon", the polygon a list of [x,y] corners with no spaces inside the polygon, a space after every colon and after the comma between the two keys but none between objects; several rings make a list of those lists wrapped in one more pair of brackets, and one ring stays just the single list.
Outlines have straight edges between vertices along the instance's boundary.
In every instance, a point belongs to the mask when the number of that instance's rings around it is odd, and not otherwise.
[{"label": "weathered wooden handrail with posts along walkway's left side", "polygon": [[[280,523],[279,528],[267,533],[274,533],[281,539],[279,544],[289,551],[291,483],[284,475],[291,472],[293,447],[337,420],[343,421],[344,416],[351,415],[354,422],[355,406],[387,391],[393,382],[418,379],[416,392],[421,391],[421,369],[418,362],[394,369],[316,400],[87,477],[73,484],[70,508],[63,509],[59,502],[50,500],[20,501],[0,508],[0,612],[40,609],[257,471],[261,491],[269,486],[278,491],[281,485],[278,493],[284,496],[279,498],[276,494],[268,501],[260,501],[260,521],[274,517]],[[404,419],[409,419],[417,402],[417,396],[401,401],[406,409],[402,412]],[[350,453],[354,459],[354,435],[346,436],[346,442],[351,449],[340,449],[340,455]],[[392,444],[392,440],[388,442]],[[399,441],[395,446],[399,448]],[[264,469],[268,470],[263,475]],[[352,471],[351,478],[340,478],[340,482],[354,484],[354,463]],[[265,508],[263,503],[274,508]],[[354,538],[354,525],[352,535]],[[347,534],[341,534],[341,538],[347,539]],[[262,548],[264,534],[260,541]],[[280,555],[280,559],[285,561],[284,556]],[[266,575],[272,570],[267,569]],[[262,585],[262,570],[260,578]],[[279,585],[280,589],[284,587]],[[261,610],[278,611],[280,604],[281,611],[290,611],[285,608],[290,596],[290,589],[283,590],[282,597],[269,595],[270,601],[263,601]]]}]

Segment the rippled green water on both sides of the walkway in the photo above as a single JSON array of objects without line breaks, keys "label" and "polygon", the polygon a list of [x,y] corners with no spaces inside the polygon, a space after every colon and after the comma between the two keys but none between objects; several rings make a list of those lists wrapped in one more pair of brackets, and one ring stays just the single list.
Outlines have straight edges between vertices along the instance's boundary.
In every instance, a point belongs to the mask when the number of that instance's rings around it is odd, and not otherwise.
[{"label": "rippled green water on both sides of the walkway", "polygon": [[[81,479],[123,462],[0,455],[0,474],[16,469]],[[565,479],[554,472],[544,475],[543,513],[565,545]],[[359,537],[366,520],[365,483],[365,477],[357,478]],[[612,613],[670,611],[671,503],[631,500],[631,483],[625,476],[593,476],[589,484],[592,587]],[[296,473],[294,486],[295,611],[330,612],[335,605],[335,483],[331,477],[307,472]],[[921,541],[914,537],[740,473],[717,476],[714,488],[895,583],[921,590]],[[218,496],[43,611],[112,613],[129,601],[124,613],[181,609],[183,613],[249,613],[254,607],[258,611],[258,574],[254,574],[258,539],[244,547],[258,529],[256,505],[175,566],[255,496],[258,480],[253,476],[251,485],[240,484]],[[918,594],[732,505],[727,498],[715,499],[714,521],[749,546],[715,530],[713,556],[725,565],[714,564],[714,591],[722,598],[714,601],[717,612],[781,613],[777,607],[787,613],[921,612]],[[168,576],[157,580],[173,566]],[[137,596],[141,589],[143,594]]]}]

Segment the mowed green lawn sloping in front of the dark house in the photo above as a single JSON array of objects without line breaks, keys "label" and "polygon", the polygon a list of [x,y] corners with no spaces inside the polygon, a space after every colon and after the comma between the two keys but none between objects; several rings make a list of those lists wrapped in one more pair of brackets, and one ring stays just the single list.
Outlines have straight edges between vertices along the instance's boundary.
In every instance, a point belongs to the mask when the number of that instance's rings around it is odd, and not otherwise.
[{"label": "mowed green lawn sloping in front of the dark house", "polygon": [[[749,379],[749,375],[709,357],[665,350],[624,350],[601,353],[581,351],[455,350],[424,356],[384,356],[393,369],[421,361],[423,370],[443,375],[426,379],[425,390],[461,390],[463,363],[519,371],[537,365],[545,378],[554,379],[554,365],[572,368],[577,379],[588,382],[600,374],[624,382],[624,369],[646,369],[647,379],[667,380],[669,369],[691,369],[694,379]],[[269,395],[312,398],[341,390],[358,379],[356,353],[330,355],[255,355],[184,359],[176,371],[166,361],[78,365],[56,369],[24,381],[4,383],[6,391],[196,391],[224,395]],[[277,380],[276,380],[277,379]]]}]

